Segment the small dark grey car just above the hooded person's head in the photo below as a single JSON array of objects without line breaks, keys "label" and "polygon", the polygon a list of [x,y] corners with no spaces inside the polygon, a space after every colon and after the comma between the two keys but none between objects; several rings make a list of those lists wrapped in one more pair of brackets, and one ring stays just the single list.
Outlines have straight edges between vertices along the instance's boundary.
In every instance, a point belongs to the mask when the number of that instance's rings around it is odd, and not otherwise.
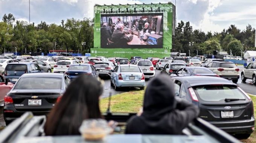
[{"label": "small dark grey car just above the hooded person's head", "polygon": [[176,62],[168,63],[165,65],[165,67],[162,68],[161,73],[171,75],[172,73],[175,73],[178,69],[183,67],[186,67],[186,64]]}]

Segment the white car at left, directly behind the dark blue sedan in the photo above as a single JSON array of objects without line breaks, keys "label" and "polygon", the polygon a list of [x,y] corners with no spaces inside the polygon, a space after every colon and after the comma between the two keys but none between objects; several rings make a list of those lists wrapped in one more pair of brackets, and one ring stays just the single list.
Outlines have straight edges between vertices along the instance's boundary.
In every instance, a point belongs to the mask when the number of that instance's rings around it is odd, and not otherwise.
[{"label": "white car at left, directly behind the dark blue sedan", "polygon": [[64,73],[71,64],[79,64],[79,62],[73,60],[60,60],[53,66],[53,73]]}]

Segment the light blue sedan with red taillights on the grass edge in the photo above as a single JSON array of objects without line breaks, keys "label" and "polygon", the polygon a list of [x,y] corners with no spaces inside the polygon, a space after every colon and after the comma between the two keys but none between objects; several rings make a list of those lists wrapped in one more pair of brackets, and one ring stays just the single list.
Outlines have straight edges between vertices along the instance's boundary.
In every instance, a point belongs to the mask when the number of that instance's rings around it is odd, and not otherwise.
[{"label": "light blue sedan with red taillights on the grass edge", "polygon": [[110,85],[118,90],[120,87],[145,88],[145,76],[138,65],[117,65],[111,70]]}]

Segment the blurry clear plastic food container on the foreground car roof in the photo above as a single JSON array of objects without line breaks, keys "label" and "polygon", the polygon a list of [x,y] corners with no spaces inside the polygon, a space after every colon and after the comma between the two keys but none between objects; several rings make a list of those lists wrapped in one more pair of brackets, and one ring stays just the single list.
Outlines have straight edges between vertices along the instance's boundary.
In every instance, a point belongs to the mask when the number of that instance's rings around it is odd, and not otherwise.
[{"label": "blurry clear plastic food container on the foreground car roof", "polygon": [[102,140],[113,129],[104,119],[87,119],[82,122],[79,131],[85,140]]}]

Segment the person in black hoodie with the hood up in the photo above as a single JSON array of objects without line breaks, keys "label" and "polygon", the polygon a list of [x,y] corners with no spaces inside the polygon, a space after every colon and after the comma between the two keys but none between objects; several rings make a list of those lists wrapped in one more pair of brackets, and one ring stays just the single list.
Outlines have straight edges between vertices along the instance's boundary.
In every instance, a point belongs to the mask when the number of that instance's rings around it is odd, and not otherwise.
[{"label": "person in black hoodie with the hood up", "polygon": [[143,113],[131,117],[126,134],[181,134],[198,114],[192,103],[174,97],[174,84],[167,75],[152,79],[145,91]]}]

